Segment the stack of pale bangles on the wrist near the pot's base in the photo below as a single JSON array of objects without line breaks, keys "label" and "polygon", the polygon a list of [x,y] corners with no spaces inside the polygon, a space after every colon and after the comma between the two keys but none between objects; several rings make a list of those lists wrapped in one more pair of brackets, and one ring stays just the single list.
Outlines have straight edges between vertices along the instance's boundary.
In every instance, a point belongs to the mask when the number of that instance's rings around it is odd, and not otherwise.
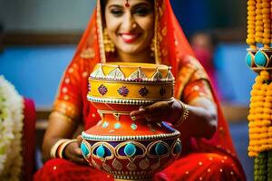
[{"label": "stack of pale bangles on the wrist near the pot's base", "polygon": [[66,148],[70,143],[76,142],[77,139],[67,139],[63,138],[58,140],[53,147],[51,148],[50,155],[53,158],[63,158],[63,150]]}]

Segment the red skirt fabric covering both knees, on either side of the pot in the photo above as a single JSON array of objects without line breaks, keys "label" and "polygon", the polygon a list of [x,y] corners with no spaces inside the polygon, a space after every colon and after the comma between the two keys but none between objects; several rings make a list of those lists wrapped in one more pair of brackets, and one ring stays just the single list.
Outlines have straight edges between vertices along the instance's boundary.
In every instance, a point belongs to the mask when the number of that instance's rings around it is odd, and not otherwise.
[{"label": "red skirt fabric covering both knees, on either side of the pot", "polygon": [[[36,181],[112,181],[111,175],[64,159],[52,159],[39,170]],[[245,180],[232,157],[216,153],[190,153],[157,173],[154,181]]]}]

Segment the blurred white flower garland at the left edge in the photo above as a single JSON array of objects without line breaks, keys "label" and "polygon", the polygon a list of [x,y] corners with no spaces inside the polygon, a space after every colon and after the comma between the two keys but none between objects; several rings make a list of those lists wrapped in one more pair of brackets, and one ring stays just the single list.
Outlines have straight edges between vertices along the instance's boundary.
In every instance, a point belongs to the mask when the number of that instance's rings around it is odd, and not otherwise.
[{"label": "blurred white flower garland at the left edge", "polygon": [[20,180],[24,100],[0,76],[0,180]]}]

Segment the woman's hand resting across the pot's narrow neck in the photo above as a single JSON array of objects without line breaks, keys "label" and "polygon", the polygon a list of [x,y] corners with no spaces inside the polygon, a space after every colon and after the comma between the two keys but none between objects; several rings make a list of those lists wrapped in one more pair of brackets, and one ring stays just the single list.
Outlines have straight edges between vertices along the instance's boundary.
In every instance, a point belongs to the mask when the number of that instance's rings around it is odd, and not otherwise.
[{"label": "woman's hand resting across the pot's narrow neck", "polygon": [[182,107],[178,100],[159,101],[150,106],[141,107],[139,110],[131,111],[131,117],[135,119],[146,119],[148,121],[168,121],[174,123],[180,119]]}]

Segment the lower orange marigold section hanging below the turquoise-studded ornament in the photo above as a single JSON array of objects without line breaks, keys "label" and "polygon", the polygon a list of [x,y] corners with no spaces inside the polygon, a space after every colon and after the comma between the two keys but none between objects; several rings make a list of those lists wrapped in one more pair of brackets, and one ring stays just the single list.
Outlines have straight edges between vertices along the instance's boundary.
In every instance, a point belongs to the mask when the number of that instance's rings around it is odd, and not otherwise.
[{"label": "lower orange marigold section hanging below the turquoise-studded ornament", "polygon": [[251,99],[248,115],[249,146],[248,156],[257,157],[260,152],[272,148],[271,110],[272,110],[272,82],[269,82],[269,73],[261,71],[255,79],[250,92]]}]

